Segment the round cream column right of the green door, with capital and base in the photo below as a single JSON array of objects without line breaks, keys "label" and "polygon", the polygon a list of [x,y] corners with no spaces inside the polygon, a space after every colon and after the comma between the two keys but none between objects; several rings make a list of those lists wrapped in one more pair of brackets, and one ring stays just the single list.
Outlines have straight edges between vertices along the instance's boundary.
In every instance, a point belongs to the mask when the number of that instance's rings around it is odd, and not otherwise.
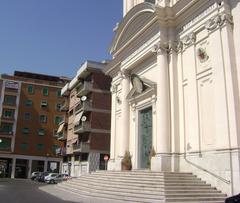
[{"label": "round cream column right of the green door, with capital and base", "polygon": [[157,84],[157,143],[156,156],[152,158],[151,168],[157,171],[171,170],[170,153],[170,93],[168,70],[168,43],[154,46],[157,54],[159,80]]}]

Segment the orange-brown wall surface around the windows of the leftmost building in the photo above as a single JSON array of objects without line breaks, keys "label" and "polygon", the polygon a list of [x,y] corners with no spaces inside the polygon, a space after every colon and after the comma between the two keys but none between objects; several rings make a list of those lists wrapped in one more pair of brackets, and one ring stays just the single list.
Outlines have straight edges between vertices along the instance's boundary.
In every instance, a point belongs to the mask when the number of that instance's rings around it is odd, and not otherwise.
[{"label": "orange-brown wall surface around the windows of the leftmost building", "polygon": [[[55,152],[52,151],[53,145],[62,146],[56,138],[53,137],[53,130],[58,129],[58,125],[55,124],[55,116],[63,116],[64,112],[58,112],[56,110],[57,103],[63,103],[64,98],[57,97],[57,90],[60,88],[48,87],[48,96],[43,96],[42,85],[33,85],[34,94],[28,93],[28,84],[23,83],[21,87],[17,131],[15,139],[14,153],[32,155],[32,156],[55,156]],[[31,99],[33,105],[27,107],[25,101]],[[42,108],[40,106],[41,100],[46,100],[48,106]],[[31,114],[31,120],[24,120],[24,114],[29,112]],[[47,116],[46,123],[40,123],[39,116],[43,114]],[[23,128],[29,128],[29,134],[23,134]],[[45,129],[45,135],[39,136],[38,130],[40,128]],[[27,143],[27,150],[21,149],[21,144]],[[43,151],[37,150],[37,144],[44,144]]]}]

